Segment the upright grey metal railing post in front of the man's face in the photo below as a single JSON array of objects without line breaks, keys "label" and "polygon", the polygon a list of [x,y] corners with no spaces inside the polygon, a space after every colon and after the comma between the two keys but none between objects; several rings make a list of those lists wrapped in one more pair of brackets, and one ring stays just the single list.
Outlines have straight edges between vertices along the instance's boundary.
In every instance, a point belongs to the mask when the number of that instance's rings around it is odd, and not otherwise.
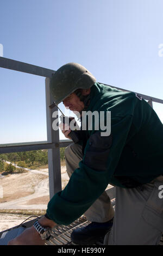
[{"label": "upright grey metal railing post in front of the man's face", "polygon": [[49,168],[49,194],[50,199],[55,193],[61,191],[61,166],[60,166],[60,148],[59,148],[59,130],[52,128],[52,113],[58,111],[58,108],[49,108],[53,99],[49,88],[49,78],[45,79],[46,86],[46,118],[47,118],[47,141],[55,143],[55,148],[48,149],[48,168]]}]

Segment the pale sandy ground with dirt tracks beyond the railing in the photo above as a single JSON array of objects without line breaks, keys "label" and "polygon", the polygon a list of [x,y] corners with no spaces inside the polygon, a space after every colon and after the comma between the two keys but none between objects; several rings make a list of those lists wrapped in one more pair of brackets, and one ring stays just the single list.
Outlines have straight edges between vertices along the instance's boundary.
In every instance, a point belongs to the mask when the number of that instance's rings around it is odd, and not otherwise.
[{"label": "pale sandy ground with dirt tracks beyond the railing", "polygon": [[[61,167],[62,189],[69,178],[66,167]],[[0,212],[46,210],[49,202],[48,169],[26,173],[0,175]],[[29,215],[0,213],[0,232],[26,220]]]}]

